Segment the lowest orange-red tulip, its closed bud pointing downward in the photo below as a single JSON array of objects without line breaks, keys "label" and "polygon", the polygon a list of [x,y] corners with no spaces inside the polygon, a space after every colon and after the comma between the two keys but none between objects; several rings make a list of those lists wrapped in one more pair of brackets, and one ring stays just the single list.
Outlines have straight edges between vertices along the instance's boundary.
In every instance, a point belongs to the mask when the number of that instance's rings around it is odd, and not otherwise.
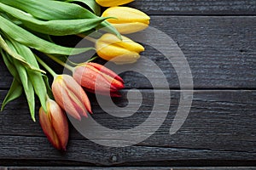
[{"label": "lowest orange-red tulip, its closed bud pointing downward", "polygon": [[49,142],[57,150],[66,150],[68,140],[67,117],[61,107],[52,99],[46,101],[47,112],[41,107],[39,122]]}]

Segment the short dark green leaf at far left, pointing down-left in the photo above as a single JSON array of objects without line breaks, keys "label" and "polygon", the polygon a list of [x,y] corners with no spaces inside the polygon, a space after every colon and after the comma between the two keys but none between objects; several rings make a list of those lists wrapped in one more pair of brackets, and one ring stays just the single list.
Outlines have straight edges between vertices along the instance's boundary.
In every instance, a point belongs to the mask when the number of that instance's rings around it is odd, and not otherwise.
[{"label": "short dark green leaf at far left, pointing down-left", "polygon": [[13,101],[19,98],[21,94],[22,94],[22,86],[20,85],[20,82],[14,78],[12,85],[9,88],[9,92],[3,100],[1,111],[3,111],[5,105],[7,105],[10,101]]}]

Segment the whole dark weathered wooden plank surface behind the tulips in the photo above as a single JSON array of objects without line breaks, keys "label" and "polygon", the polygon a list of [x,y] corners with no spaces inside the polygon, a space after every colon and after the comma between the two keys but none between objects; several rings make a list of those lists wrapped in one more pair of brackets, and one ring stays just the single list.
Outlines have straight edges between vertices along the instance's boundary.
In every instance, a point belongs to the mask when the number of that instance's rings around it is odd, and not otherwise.
[{"label": "whole dark weathered wooden plank surface behind the tulips", "polygon": [[[111,148],[91,142],[70,126],[67,152],[61,153],[49,144],[39,123],[32,122],[22,97],[0,114],[0,166],[9,169],[256,167],[256,1],[137,0],[129,6],[149,14],[150,25],[172,37],[188,60],[195,92],[183,127],[169,135],[180,97],[177,74],[164,56],[146,48],[143,55],[160,65],[172,90],[169,114],[154,135],[139,144]],[[2,102],[12,81],[2,58],[0,70]],[[148,71],[154,73],[150,67]],[[102,111],[90,95],[96,121],[107,127],[120,123],[134,127],[143,122],[154,104],[153,93],[167,91],[162,87],[153,90],[147,79],[134,72],[121,76],[127,88],[124,93],[129,88],[139,88],[143,104],[129,121],[119,122]],[[126,105],[127,100],[124,97],[118,102]]]}]

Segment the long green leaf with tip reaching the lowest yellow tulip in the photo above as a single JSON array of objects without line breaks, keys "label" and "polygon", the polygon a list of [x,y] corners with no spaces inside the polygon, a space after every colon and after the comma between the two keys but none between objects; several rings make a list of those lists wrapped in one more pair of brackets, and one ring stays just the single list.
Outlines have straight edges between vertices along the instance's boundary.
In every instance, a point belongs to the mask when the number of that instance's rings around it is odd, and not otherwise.
[{"label": "long green leaf with tip reaching the lowest yellow tulip", "polygon": [[20,26],[16,26],[9,20],[4,19],[0,16],[1,27],[0,29],[6,33],[9,37],[15,39],[15,41],[20,42],[28,47],[36,48],[38,51],[44,52],[46,54],[63,54],[63,55],[73,55],[81,54],[85,51],[94,48],[66,48],[56,45],[52,42],[47,42],[44,39],[34,36],[29,31],[24,30]]}]

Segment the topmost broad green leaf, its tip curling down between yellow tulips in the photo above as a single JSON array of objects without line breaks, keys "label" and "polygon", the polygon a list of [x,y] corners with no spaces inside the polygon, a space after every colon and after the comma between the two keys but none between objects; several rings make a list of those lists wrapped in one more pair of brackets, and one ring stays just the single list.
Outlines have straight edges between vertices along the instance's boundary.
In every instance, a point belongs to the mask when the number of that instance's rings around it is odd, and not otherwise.
[{"label": "topmost broad green leaf, its tip curling down between yellow tulips", "polygon": [[[91,13],[88,9],[74,3],[66,3],[53,0],[0,0],[0,3],[19,8],[26,11],[40,20],[78,20],[96,19],[98,16]],[[100,28],[105,28],[120,38],[117,31],[108,21],[103,21]]]}]

